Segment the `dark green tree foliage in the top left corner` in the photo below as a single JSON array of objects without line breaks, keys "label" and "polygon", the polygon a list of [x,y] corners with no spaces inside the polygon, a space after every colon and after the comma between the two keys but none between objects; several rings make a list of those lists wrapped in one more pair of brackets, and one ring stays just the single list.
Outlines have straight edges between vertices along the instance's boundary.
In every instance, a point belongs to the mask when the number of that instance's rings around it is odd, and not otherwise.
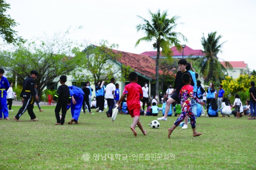
[{"label": "dark green tree foliage in the top left corner", "polygon": [[6,40],[7,43],[12,43],[20,39],[16,37],[17,31],[12,29],[17,26],[18,23],[16,23],[10,15],[5,14],[7,9],[10,9],[10,4],[6,3],[5,0],[0,0],[0,36]]}]

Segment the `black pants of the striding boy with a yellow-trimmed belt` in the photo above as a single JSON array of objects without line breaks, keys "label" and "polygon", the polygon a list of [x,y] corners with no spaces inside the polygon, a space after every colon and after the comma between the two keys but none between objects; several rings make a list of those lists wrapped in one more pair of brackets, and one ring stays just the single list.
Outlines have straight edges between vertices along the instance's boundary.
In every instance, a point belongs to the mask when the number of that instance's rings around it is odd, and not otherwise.
[{"label": "black pants of the striding boy with a yellow-trimmed belt", "polygon": [[23,102],[22,107],[18,111],[17,115],[15,116],[16,119],[20,119],[20,116],[22,116],[26,110],[28,110],[30,119],[35,119],[36,116],[35,116],[35,113],[33,112],[34,103],[35,103],[34,96],[31,96],[30,92],[25,91],[23,98],[24,98],[24,102]]}]

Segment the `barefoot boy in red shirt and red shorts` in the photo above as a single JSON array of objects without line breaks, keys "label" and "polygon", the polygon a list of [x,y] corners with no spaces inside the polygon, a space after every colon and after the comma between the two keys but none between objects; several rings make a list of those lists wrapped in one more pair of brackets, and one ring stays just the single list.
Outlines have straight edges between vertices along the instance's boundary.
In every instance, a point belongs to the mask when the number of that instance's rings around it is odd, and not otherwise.
[{"label": "barefoot boy in red shirt and red shorts", "polygon": [[129,114],[131,117],[134,117],[133,124],[131,125],[131,130],[134,134],[134,136],[137,136],[137,132],[135,131],[135,126],[138,125],[140,130],[144,135],[146,135],[146,130],[143,130],[143,127],[140,123],[140,99],[143,98],[143,91],[140,85],[137,84],[138,82],[138,76],[137,73],[131,72],[129,74],[129,81],[131,82],[128,85],[125,85],[123,94],[119,101],[116,103],[116,107],[120,105],[123,99],[125,99],[125,96],[127,94],[127,107]]}]

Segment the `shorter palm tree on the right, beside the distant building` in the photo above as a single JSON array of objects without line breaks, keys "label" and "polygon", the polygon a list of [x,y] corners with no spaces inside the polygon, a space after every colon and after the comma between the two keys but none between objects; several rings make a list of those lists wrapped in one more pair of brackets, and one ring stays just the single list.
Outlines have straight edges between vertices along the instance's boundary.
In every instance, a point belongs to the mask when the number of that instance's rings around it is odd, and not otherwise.
[{"label": "shorter palm tree on the right, beside the distant building", "polygon": [[[204,50],[202,52],[205,54],[204,57],[199,58],[196,62],[200,63],[201,73],[204,75],[204,83],[209,81],[217,81],[224,77],[224,73],[227,72],[226,68],[232,68],[229,62],[225,61],[225,67],[219,62],[217,54],[221,51],[224,42],[219,44],[221,35],[217,37],[217,32],[211,32],[208,34],[207,39],[203,37],[201,39],[201,44]],[[225,41],[226,42],[226,41]]]}]

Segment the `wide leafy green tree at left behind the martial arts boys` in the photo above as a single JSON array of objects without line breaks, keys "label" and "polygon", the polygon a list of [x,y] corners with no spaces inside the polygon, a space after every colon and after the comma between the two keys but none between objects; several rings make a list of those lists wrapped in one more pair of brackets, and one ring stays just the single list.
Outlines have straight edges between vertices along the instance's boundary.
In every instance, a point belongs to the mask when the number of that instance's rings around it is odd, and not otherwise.
[{"label": "wide leafy green tree at left behind the martial arts boys", "polygon": [[[71,57],[78,54],[74,42],[65,39],[69,31],[56,33],[54,37],[36,38],[26,42],[16,44],[7,44],[5,50],[0,51],[0,63],[2,67],[9,71],[9,74],[17,75],[22,80],[19,82],[23,85],[26,77],[30,76],[31,70],[37,70],[39,75],[35,79],[38,85],[38,96],[41,98],[43,89],[48,83],[52,83],[55,79],[63,74],[71,74],[71,72],[80,66],[81,58]],[[70,56],[70,57],[68,57]]]}]

